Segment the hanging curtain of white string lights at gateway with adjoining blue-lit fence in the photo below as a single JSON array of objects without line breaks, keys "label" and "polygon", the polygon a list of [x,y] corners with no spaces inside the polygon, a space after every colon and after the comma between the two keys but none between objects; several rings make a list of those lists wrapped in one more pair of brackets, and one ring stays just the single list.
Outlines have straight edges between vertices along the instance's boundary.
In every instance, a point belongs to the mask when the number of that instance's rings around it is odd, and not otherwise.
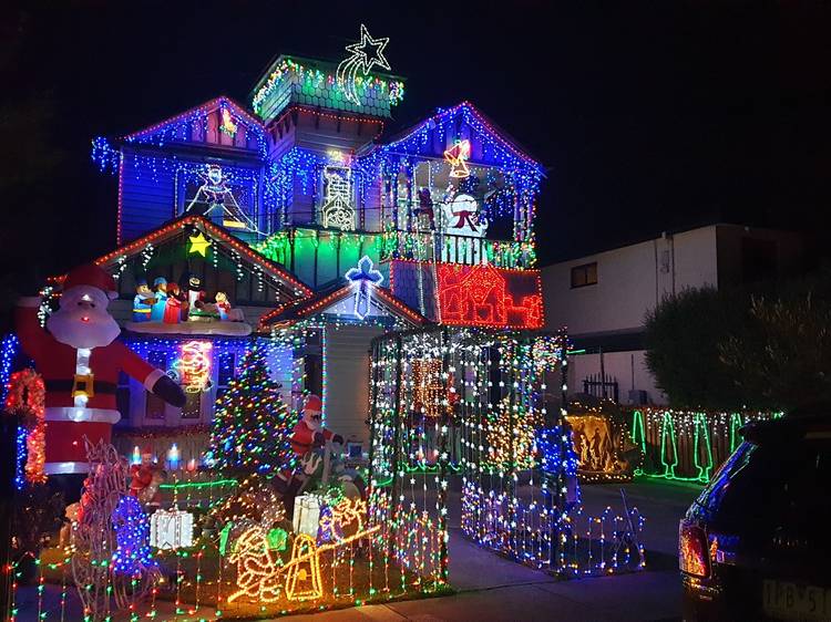
[{"label": "hanging curtain of white string lights at gateway with adjoining blue-lit fence", "polygon": [[[558,346],[540,346],[541,339]],[[456,424],[444,415],[432,426],[410,425],[409,405],[419,393],[410,381],[413,365],[430,357],[441,361],[442,377],[453,379],[459,396],[465,536],[556,574],[608,574],[644,567],[643,517],[636,509],[588,517],[579,508],[577,459],[564,402],[548,412],[545,397],[552,373],[565,391],[564,340],[433,328],[373,342],[370,525],[391,532],[398,559],[418,563],[422,574],[435,581],[447,579],[449,444]],[[561,353],[556,370],[538,372],[531,355],[535,348]],[[440,412],[447,412],[449,395],[434,395]],[[438,547],[432,548],[431,537],[419,537],[424,523],[438,529],[432,532]],[[402,533],[414,537],[401,538]]]}]

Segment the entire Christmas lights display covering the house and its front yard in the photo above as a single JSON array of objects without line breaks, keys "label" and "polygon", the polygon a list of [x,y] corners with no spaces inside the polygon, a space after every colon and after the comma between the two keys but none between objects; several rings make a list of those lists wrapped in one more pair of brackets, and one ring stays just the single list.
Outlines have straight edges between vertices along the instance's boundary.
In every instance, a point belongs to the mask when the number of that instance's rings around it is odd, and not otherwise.
[{"label": "entire Christmas lights display covering the house and its front yard", "polygon": [[[258,118],[218,97],[93,141],[119,178],[119,248],[94,263],[133,303],[126,346],[185,405],[122,377],[101,387],[129,425],[117,453],[89,446],[40,571],[64,597],[75,583],[86,619],[444,593],[451,477],[462,532],[496,553],[560,576],[644,566],[636,509],[581,510],[577,475],[606,468],[608,445],[547,390],[565,391],[565,335],[531,332],[543,168],[469,102],[381,142],[404,92],[373,73],[387,44],[361,25],[339,64],[279,56],[253,91]],[[49,281],[52,305],[66,280]],[[366,386],[334,377],[359,340],[371,353],[348,364]],[[678,428],[663,428],[671,456]]]}]

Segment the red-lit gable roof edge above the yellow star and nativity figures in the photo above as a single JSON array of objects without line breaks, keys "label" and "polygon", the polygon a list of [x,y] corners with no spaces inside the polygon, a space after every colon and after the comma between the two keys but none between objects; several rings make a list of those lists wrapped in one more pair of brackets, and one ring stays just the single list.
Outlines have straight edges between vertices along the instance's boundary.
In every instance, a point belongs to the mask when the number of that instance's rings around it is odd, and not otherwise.
[{"label": "red-lit gable roof edge above the yellow star and nativity figures", "polygon": [[[119,258],[138,255],[148,243],[154,246],[163,243],[181,235],[186,227],[193,227],[226,248],[239,253],[240,257],[244,257],[250,263],[259,267],[264,274],[270,277],[291,300],[305,299],[312,296],[312,291],[281,265],[261,256],[246,242],[204,216],[188,215],[171,220],[150,234],[123,245],[106,255],[102,255],[98,259],[94,259],[93,262],[102,268],[110,268],[119,261]],[[52,277],[49,280],[52,283],[62,283],[64,278],[65,274],[62,274],[60,277]]]}]

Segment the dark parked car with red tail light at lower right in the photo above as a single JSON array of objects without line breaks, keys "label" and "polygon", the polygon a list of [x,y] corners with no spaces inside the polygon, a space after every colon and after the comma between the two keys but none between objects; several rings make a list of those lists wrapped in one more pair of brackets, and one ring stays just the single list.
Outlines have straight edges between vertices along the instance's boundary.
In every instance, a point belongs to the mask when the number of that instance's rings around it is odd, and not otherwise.
[{"label": "dark parked car with red tail light at lower right", "polygon": [[679,526],[684,620],[831,621],[831,408],[742,429]]}]

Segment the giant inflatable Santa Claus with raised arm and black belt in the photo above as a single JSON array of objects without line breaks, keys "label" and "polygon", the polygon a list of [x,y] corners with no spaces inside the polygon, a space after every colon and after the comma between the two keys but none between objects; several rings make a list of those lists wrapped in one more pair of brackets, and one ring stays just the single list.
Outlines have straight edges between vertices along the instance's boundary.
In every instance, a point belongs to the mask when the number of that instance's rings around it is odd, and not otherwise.
[{"label": "giant inflatable Santa Claus with raised arm and black belt", "polygon": [[168,404],[185,405],[176,383],[116,339],[121,329],[106,310],[115,298],[113,278],[88,265],[66,276],[48,330],[38,320],[40,297],[18,302],[18,336],[47,390],[47,474],[86,473],[84,436],[92,443],[110,443],[112,426],[121,418],[115,406],[121,371]]}]

